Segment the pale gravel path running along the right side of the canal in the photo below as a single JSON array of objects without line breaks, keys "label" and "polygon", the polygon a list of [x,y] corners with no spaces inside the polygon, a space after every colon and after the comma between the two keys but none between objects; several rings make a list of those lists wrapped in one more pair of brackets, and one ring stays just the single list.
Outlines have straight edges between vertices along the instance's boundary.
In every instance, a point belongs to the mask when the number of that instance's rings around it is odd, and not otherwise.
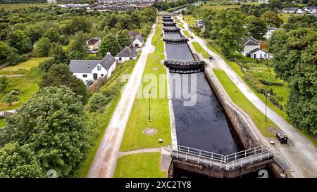
[{"label": "pale gravel path running along the right side of the canal", "polygon": [[[182,22],[185,30],[188,30],[188,25],[182,20],[181,16],[178,16],[180,22]],[[258,108],[261,113],[265,114],[265,103],[258,98],[251,89],[244,83],[230,66],[225,63],[225,60],[218,56],[218,54],[213,53],[207,45],[204,39],[197,37],[192,33],[191,41],[198,42],[201,47],[208,52],[213,57],[213,63],[216,68],[224,70],[226,74],[230,77],[232,82],[234,82],[240,89],[242,94],[246,96],[251,103],[253,103],[256,108]],[[292,146],[282,146],[275,142],[274,148],[280,152],[280,154],[287,160],[288,164],[292,168],[291,172],[293,177],[317,177],[317,148],[313,146],[313,143],[309,141],[302,133],[297,129],[292,127],[283,117],[275,113],[271,108],[267,108],[267,116],[272,122],[274,122],[285,134],[287,134]],[[271,139],[267,139],[267,142]],[[268,144],[268,143],[266,143]]]}]

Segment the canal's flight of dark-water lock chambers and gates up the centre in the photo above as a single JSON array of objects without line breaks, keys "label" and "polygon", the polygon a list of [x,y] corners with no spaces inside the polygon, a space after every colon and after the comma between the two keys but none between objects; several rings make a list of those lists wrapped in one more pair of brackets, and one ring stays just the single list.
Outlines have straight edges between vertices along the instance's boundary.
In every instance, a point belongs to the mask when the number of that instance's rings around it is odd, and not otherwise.
[{"label": "canal's flight of dark-water lock chambers and gates up the centre", "polygon": [[[173,20],[170,15],[164,20]],[[165,22],[164,22],[165,23]],[[224,108],[221,94],[214,89],[213,82],[206,72],[206,64],[194,53],[178,27],[163,23],[163,41],[166,48],[164,65],[169,70],[169,77],[175,74],[195,75],[197,81],[187,89],[197,89],[197,103],[184,106],[185,98],[171,98],[175,120],[177,145],[170,147],[172,161],[168,177],[173,177],[174,169],[208,175],[209,177],[241,177],[259,169],[275,166],[274,152],[268,146],[252,140],[244,122],[228,114]],[[168,22],[170,23],[170,22]],[[210,70],[210,69],[209,69]],[[189,82],[192,79],[189,78]],[[190,83],[189,83],[190,84]],[[172,93],[181,84],[168,83]],[[233,113],[235,114],[235,113]],[[241,136],[249,136],[248,141],[241,141]]]}]

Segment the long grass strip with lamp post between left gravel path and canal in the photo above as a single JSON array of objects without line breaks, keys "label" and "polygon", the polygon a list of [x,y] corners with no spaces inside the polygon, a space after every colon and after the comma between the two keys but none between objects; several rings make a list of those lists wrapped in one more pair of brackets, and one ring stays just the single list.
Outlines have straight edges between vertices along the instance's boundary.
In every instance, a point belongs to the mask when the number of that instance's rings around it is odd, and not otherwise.
[{"label": "long grass strip with lamp post between left gravel path and canal", "polygon": [[[156,25],[156,32],[152,39],[152,44],[156,44],[157,50],[148,56],[143,73],[143,77],[146,75],[154,75],[154,77],[158,79],[158,84],[143,82],[142,86],[145,90],[145,87],[154,85],[154,88],[152,88],[153,96],[156,92],[159,92],[159,87],[165,87],[165,96],[164,98],[151,98],[151,122],[149,122],[149,99],[135,99],[127,127],[125,128],[125,135],[123,136],[120,151],[168,146],[170,144],[170,116],[166,80],[163,82],[163,86],[159,85],[159,75],[166,75],[166,68],[161,64],[161,60],[165,58],[164,44],[161,40],[161,27],[161,22]],[[147,127],[157,129],[157,134],[152,136],[144,135],[142,131]],[[159,143],[159,139],[163,139],[164,142]]]}]

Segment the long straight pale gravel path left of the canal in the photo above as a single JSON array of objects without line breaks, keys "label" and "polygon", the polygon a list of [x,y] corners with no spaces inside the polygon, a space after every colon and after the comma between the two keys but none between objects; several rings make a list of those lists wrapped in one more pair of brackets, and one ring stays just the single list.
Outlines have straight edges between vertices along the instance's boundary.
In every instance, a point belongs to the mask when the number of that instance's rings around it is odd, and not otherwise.
[{"label": "long straight pale gravel path left of the canal", "polygon": [[113,113],[111,122],[106,129],[106,133],[99,145],[94,161],[88,172],[88,177],[113,177],[116,170],[116,162],[120,150],[121,141],[125,132],[132,105],[135,101],[137,89],[142,80],[142,74],[147,56],[154,51],[151,39],[154,36],[156,24],[151,27],[151,33],[145,42],[141,56],[135,65],[132,75],[126,84],[120,101]]}]

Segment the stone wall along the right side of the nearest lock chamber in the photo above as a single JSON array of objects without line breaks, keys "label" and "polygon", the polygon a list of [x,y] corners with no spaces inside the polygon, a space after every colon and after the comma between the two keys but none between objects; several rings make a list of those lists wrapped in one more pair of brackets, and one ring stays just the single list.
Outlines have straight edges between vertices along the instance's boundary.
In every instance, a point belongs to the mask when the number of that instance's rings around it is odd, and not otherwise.
[{"label": "stone wall along the right side of the nearest lock chamber", "polygon": [[251,117],[247,113],[244,113],[233,101],[230,96],[227,94],[225,89],[223,89],[216,75],[213,73],[209,66],[205,68],[206,79],[211,84],[213,91],[220,101],[225,113],[228,115],[237,136],[239,136],[240,141],[244,148],[254,148],[256,146],[261,146],[259,136],[256,135],[254,129],[257,129],[254,122],[252,122]]}]

